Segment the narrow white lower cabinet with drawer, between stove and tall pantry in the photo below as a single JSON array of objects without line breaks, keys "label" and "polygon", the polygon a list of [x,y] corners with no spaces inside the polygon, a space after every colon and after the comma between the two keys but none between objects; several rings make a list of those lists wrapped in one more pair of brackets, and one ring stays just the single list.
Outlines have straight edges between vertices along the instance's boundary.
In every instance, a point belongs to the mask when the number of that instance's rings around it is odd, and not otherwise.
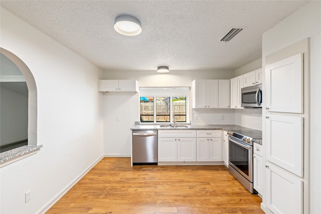
[{"label": "narrow white lower cabinet with drawer, between stove and tall pantry", "polygon": [[253,145],[253,188],[263,195],[263,170],[264,162],[262,158],[262,145],[254,143]]}]

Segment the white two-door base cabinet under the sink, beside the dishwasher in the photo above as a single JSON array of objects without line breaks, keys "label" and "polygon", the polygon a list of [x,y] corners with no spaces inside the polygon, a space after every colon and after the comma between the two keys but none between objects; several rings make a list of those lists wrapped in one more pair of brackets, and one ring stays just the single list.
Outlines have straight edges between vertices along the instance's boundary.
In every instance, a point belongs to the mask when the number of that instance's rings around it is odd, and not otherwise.
[{"label": "white two-door base cabinet under the sink, beside the dishwasher", "polygon": [[196,161],[196,130],[158,130],[158,161]]}]

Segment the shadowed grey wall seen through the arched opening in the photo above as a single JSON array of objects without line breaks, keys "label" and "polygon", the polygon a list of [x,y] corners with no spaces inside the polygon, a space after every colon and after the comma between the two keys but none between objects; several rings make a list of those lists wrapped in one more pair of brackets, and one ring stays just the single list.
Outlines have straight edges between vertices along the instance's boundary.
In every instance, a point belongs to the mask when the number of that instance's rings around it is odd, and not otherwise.
[{"label": "shadowed grey wall seen through the arched opening", "polygon": [[28,97],[6,88],[0,92],[0,145],[28,139]]}]

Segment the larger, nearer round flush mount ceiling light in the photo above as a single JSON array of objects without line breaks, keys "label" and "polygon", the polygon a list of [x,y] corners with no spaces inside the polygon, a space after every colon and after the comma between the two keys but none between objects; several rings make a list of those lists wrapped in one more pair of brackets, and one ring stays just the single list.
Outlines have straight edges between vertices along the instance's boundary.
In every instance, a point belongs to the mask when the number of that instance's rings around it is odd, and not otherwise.
[{"label": "larger, nearer round flush mount ceiling light", "polygon": [[125,36],[136,36],[141,32],[139,20],[129,15],[116,17],[114,29],[117,33]]}]

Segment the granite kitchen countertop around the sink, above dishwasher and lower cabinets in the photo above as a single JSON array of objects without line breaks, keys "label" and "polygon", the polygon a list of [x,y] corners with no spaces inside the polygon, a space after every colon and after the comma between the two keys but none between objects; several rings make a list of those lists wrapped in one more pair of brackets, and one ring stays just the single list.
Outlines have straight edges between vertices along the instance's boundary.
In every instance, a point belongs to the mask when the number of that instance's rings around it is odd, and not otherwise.
[{"label": "granite kitchen countertop around the sink, above dishwasher and lower cabinets", "polygon": [[[177,124],[181,125],[181,124]],[[233,131],[242,135],[253,138],[253,142],[262,145],[262,131],[245,128],[238,125],[191,125],[187,124],[187,127],[161,127],[158,124],[135,124],[131,130],[224,130],[224,131]]]}]

